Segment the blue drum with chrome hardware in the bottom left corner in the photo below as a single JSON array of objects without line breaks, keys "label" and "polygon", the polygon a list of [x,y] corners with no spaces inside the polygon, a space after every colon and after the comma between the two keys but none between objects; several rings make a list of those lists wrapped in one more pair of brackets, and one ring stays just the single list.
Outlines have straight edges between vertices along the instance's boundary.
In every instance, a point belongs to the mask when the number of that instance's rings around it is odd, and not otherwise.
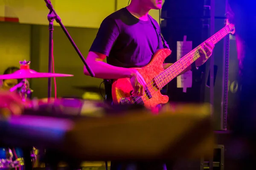
[{"label": "blue drum with chrome hardware in the bottom left corner", "polygon": [[0,169],[21,167],[23,165],[23,152],[20,148],[0,147]]}]

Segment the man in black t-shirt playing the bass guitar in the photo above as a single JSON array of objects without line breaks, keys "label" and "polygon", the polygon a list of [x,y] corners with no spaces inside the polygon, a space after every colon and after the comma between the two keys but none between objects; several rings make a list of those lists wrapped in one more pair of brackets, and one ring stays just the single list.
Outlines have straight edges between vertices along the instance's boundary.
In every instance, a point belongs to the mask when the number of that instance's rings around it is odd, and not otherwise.
[{"label": "man in black t-shirt playing the bass guitar", "polygon": [[[147,65],[152,55],[158,49],[164,48],[160,27],[148,14],[151,9],[160,8],[162,0],[131,0],[130,5],[110,14],[102,21],[86,59],[95,77],[129,78],[134,88],[134,96],[144,94],[145,80],[138,71],[128,68]],[[213,48],[211,42],[206,42],[205,48],[199,49],[201,57],[195,61],[193,67],[189,66],[184,72],[204,64],[211,56]],[[107,63],[103,62],[106,57]],[[170,65],[172,63],[163,64],[163,67],[166,69]],[[84,74],[90,75],[85,67]],[[110,91],[111,89],[106,89],[106,94],[110,95]],[[107,99],[109,98],[107,96]]]}]

